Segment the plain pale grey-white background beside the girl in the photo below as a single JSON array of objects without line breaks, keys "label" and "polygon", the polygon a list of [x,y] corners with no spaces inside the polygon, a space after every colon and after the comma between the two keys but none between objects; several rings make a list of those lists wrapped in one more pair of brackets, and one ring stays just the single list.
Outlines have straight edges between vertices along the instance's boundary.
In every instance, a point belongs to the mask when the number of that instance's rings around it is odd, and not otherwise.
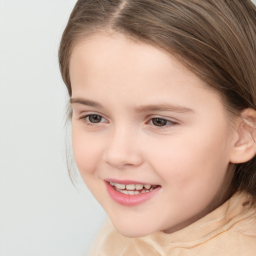
[{"label": "plain pale grey-white background beside the girl", "polygon": [[85,255],[105,218],[62,157],[57,48],[74,3],[0,0],[0,256]]}]

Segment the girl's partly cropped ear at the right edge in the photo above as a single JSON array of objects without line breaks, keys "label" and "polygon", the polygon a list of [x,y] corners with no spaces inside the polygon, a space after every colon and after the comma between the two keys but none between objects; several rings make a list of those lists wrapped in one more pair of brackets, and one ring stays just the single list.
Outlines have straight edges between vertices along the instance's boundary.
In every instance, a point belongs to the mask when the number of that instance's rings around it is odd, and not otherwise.
[{"label": "girl's partly cropped ear at the right edge", "polygon": [[256,110],[244,109],[237,120],[237,136],[230,154],[232,163],[246,162],[256,154]]}]

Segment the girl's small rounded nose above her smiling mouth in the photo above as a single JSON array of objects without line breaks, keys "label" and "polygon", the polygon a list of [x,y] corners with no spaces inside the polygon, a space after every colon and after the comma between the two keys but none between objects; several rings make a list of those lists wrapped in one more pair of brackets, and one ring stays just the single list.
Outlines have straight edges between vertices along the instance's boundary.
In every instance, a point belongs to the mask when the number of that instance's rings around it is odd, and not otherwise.
[{"label": "girl's small rounded nose above her smiling mouth", "polygon": [[132,168],[142,164],[139,139],[127,128],[115,129],[107,140],[104,161],[114,168]]}]

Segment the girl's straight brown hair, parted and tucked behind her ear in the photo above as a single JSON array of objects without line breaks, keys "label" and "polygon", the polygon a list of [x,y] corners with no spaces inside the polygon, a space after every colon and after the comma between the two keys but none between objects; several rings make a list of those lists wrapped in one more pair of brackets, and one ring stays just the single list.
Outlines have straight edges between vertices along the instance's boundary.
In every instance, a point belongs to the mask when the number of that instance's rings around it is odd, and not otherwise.
[{"label": "girl's straight brown hair, parted and tucked behind her ear", "polygon": [[[256,109],[256,8],[250,0],[78,0],[59,47],[70,96],[72,48],[106,29],[174,54],[220,92],[229,111]],[[256,195],[256,157],[236,165],[233,188]]]}]

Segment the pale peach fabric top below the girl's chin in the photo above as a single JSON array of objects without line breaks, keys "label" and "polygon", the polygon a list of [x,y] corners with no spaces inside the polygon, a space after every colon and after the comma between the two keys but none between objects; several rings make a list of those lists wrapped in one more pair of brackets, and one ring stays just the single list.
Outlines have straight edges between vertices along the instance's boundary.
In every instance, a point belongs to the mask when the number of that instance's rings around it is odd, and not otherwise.
[{"label": "pale peach fabric top below the girl's chin", "polygon": [[88,256],[255,256],[256,207],[245,192],[176,232],[129,238],[106,220]]}]

